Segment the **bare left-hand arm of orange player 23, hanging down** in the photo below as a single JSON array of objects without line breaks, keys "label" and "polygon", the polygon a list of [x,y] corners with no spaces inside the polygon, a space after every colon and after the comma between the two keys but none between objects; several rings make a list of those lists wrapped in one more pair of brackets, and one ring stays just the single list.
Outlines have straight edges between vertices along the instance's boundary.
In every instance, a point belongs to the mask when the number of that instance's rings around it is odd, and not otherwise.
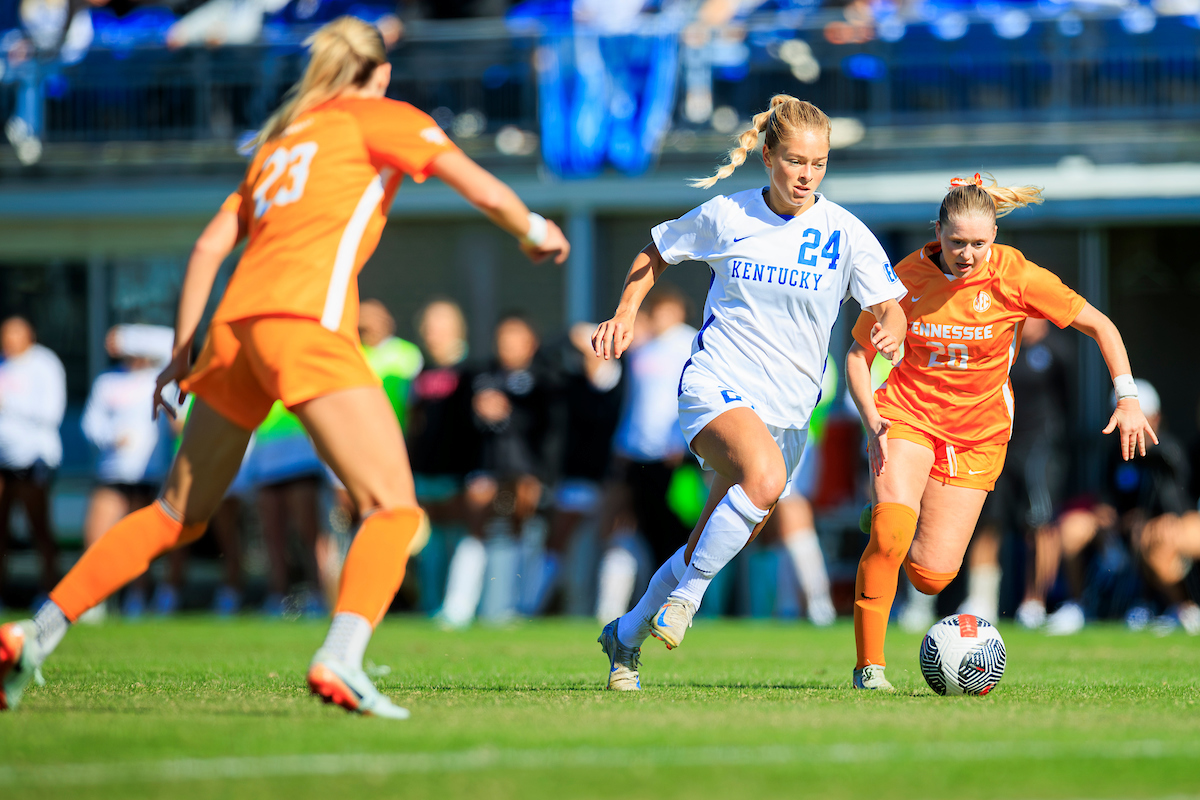
[{"label": "bare left-hand arm of orange player 23, hanging down", "polygon": [[[184,285],[179,293],[179,311],[175,314],[175,345],[172,349],[170,362],[158,373],[155,386],[151,411],[155,419],[158,417],[158,407],[162,407],[170,417],[175,416],[175,409],[163,399],[162,390],[172,381],[182,380],[191,369],[196,329],[200,325],[200,317],[209,302],[209,294],[212,291],[217,271],[233,248],[246,235],[240,215],[240,194],[232,194],[226,200],[221,210],[204,228],[200,237],[196,240],[192,254],[187,259],[187,272],[184,275]],[[184,399],[185,393],[180,391],[179,403],[181,404]]]}]

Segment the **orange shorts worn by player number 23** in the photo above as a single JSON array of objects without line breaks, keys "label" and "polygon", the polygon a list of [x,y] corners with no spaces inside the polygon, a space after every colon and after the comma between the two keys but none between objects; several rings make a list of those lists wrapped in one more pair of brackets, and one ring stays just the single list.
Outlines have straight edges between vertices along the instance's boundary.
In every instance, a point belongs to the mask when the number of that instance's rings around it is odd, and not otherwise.
[{"label": "orange shorts worn by player number 23", "polygon": [[354,342],[299,317],[251,317],[212,323],[200,357],[180,389],[247,431],[275,401],[287,408],[314,397],[379,386]]}]

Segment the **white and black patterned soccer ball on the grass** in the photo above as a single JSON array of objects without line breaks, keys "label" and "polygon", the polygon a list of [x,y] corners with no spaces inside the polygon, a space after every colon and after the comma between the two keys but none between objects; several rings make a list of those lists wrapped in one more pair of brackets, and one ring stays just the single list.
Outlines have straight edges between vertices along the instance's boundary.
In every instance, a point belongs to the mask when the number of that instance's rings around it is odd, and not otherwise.
[{"label": "white and black patterned soccer ball on the grass", "polygon": [[988,620],[952,614],[920,643],[920,674],[938,694],[986,694],[1004,676],[1004,640]]}]

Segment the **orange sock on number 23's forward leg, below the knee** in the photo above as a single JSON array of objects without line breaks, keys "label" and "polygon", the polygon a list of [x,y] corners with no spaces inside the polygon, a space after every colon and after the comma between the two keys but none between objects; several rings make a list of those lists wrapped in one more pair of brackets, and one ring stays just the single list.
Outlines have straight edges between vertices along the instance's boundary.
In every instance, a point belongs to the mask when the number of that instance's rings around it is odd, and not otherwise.
[{"label": "orange sock on number 23's forward leg, below the knee", "polygon": [[342,566],[335,614],[348,612],[379,624],[404,579],[408,549],[424,513],[415,507],[390,509],[362,521]]}]

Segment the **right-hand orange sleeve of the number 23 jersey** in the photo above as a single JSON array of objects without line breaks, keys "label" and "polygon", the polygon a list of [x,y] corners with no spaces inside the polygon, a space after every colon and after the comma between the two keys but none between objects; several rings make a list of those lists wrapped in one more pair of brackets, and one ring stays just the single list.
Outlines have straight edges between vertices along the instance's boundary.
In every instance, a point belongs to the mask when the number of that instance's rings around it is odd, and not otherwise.
[{"label": "right-hand orange sleeve of the number 23 jersey", "polygon": [[418,184],[430,176],[434,158],[458,149],[432,116],[408,103],[377,101],[355,116],[367,152],[412,175]]}]

